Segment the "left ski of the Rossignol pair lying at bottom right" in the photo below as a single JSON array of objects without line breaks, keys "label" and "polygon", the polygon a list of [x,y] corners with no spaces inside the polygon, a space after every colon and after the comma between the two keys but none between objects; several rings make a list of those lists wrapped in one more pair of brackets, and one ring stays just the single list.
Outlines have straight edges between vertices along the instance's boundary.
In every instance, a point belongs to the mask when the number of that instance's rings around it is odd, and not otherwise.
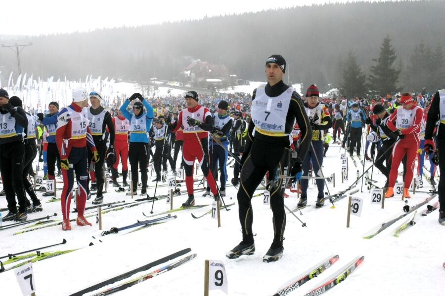
[{"label": "left ski of the Rossignol pair lying at bottom right", "polygon": [[322,260],[321,262],[312,266],[307,272],[289,280],[285,283],[277,293],[273,294],[273,296],[284,296],[288,295],[292,291],[298,289],[304,283],[312,280],[314,277],[321,274],[327,268],[331,267],[339,259],[338,255],[331,255],[328,258]]}]

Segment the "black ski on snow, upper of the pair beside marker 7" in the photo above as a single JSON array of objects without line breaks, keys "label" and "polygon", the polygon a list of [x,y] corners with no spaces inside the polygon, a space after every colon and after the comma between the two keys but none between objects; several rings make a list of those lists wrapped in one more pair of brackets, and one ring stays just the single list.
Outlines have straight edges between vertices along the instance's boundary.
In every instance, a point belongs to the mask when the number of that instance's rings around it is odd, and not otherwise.
[{"label": "black ski on snow, upper of the pair beside marker 7", "polygon": [[[99,289],[99,288],[102,288],[102,287],[104,287],[104,286],[111,285],[111,284],[113,284],[113,283],[115,283],[115,282],[117,282],[117,281],[122,281],[122,280],[124,280],[124,279],[126,279],[126,278],[128,278],[128,277],[130,277],[130,276],[132,276],[132,275],[134,275],[135,273],[138,273],[138,272],[141,272],[141,271],[148,270],[148,269],[150,269],[150,268],[152,268],[152,267],[154,267],[154,266],[157,266],[157,265],[159,265],[159,264],[162,264],[162,263],[165,263],[165,262],[167,262],[167,261],[173,260],[173,259],[175,259],[175,258],[177,258],[177,257],[179,257],[179,256],[182,256],[182,255],[187,254],[188,252],[191,252],[191,249],[190,249],[190,248],[187,248],[187,249],[178,251],[178,252],[173,253],[173,254],[171,254],[171,255],[169,255],[169,256],[166,256],[166,257],[164,257],[164,258],[157,259],[157,260],[155,260],[155,261],[153,261],[153,262],[150,262],[150,263],[148,263],[148,264],[142,265],[142,266],[140,266],[140,267],[138,267],[138,268],[135,268],[135,269],[133,269],[133,270],[127,271],[127,272],[125,272],[125,273],[122,273],[122,274],[117,275],[117,276],[115,276],[115,277],[112,277],[112,278],[110,278],[110,279],[107,279],[107,280],[105,280],[105,281],[103,281],[103,282],[94,284],[94,285],[92,285],[92,286],[90,286],[90,287],[88,287],[88,288],[85,288],[85,289],[83,289],[83,290],[81,290],[81,291],[78,291],[78,292],[76,292],[76,293],[73,293],[73,294],[71,294],[70,296],[82,296],[82,295],[84,295],[85,293],[89,293],[89,292],[95,291],[95,290],[97,290],[97,289]],[[101,295],[101,294],[95,294],[95,295]]]}]

